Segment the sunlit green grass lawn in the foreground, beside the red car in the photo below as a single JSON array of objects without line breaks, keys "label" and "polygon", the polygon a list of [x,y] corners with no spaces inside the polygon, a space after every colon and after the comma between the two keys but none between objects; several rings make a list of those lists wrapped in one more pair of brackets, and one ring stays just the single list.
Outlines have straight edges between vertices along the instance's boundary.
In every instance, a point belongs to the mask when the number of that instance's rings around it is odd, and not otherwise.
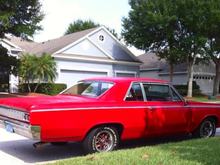
[{"label": "sunlit green grass lawn in the foreground, beside the red car", "polygon": [[219,165],[220,137],[118,150],[57,161],[51,165]]}]

